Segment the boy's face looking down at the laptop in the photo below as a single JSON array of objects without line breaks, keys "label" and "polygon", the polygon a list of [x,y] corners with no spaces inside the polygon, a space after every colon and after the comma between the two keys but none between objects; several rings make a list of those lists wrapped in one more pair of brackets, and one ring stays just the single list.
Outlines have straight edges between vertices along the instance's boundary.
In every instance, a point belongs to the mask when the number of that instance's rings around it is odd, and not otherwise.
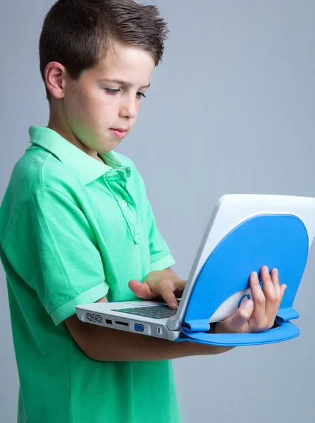
[{"label": "boy's face looking down at the laptop", "polygon": [[[114,54],[107,54],[97,66],[82,73],[79,80],[66,77],[64,124],[69,133],[92,150],[89,154],[111,151],[130,133],[154,68],[154,59],[147,51],[116,44]],[[126,132],[115,134],[111,128],[123,128]]]}]

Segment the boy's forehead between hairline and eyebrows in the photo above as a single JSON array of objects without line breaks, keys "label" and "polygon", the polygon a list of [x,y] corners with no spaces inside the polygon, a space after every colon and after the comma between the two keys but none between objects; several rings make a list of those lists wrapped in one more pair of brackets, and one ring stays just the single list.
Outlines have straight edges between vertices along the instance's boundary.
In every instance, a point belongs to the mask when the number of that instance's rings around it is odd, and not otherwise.
[{"label": "boy's forehead between hairline and eyebrows", "polygon": [[123,80],[132,85],[149,85],[154,68],[155,62],[149,52],[116,44],[90,71],[97,80]]}]

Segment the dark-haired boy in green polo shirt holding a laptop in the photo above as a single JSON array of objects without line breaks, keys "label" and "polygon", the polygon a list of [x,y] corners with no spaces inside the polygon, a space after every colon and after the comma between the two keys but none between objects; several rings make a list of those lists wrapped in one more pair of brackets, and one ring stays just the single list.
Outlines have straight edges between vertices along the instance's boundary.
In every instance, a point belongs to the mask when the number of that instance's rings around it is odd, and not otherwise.
[{"label": "dark-haired boy in green polo shirt holding a laptop", "polygon": [[[20,378],[19,423],[180,422],[170,359],[223,353],[84,324],[75,305],[183,291],[135,164],[130,133],[166,23],[132,0],[59,0],[39,41],[47,127],[30,127],[0,210]],[[285,286],[252,274],[252,301],[217,332],[273,326]]]}]

